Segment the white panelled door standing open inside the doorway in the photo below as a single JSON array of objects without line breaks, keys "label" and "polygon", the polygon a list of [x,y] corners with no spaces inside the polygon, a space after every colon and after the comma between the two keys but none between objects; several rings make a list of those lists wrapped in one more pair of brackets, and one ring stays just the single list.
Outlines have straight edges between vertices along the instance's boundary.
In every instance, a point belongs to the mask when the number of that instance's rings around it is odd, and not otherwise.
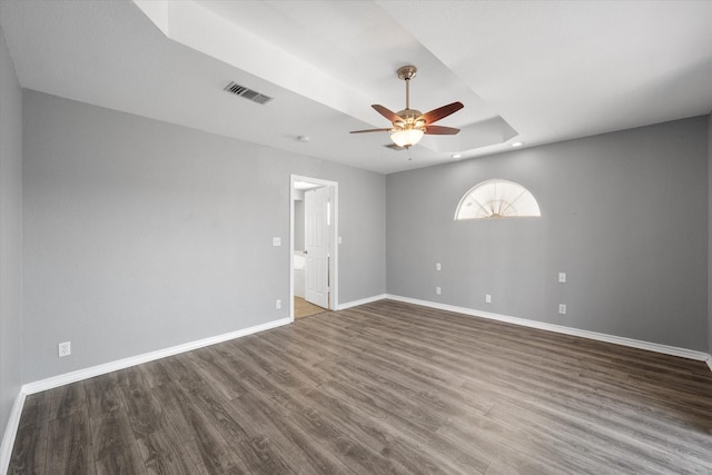
[{"label": "white panelled door standing open inside the doorway", "polygon": [[305,250],[304,298],[314,305],[329,305],[329,188],[304,194]]}]

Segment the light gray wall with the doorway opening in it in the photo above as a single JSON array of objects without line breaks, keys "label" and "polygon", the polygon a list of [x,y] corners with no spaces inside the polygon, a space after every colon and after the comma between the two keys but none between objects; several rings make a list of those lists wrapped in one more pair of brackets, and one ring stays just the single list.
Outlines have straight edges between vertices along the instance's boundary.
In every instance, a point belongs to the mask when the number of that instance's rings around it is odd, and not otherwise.
[{"label": "light gray wall with the doorway opening in it", "polygon": [[339,182],[339,301],[385,291],[382,175],[28,90],[24,137],[26,382],[288,317],[290,174]]}]

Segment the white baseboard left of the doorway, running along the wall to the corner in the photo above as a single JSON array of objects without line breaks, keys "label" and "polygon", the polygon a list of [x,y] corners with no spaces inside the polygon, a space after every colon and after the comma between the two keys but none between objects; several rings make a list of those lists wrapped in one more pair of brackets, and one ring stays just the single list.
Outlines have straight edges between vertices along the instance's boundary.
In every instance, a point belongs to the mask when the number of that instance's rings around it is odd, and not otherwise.
[{"label": "white baseboard left of the doorway, running along the wall to the corner", "polygon": [[142,355],[131,356],[129,358],[106,363],[103,365],[92,366],[90,368],[78,369],[76,372],[66,373],[63,375],[53,376],[47,379],[41,379],[34,383],[26,384],[22,386],[22,392],[24,394],[40,393],[42,390],[52,389],[59,386],[63,386],[66,384],[76,383],[78,380],[88,379],[95,376],[105,375],[107,373],[116,372],[119,369],[129,368],[131,366],[152,362],[155,359],[165,358],[167,356],[178,355],[179,353],[186,353],[192,349],[202,348],[205,346],[210,346],[218,343],[227,342],[229,339],[235,339],[235,338],[251,335],[255,333],[268,330],[270,328],[280,327],[283,325],[287,325],[290,323],[291,323],[290,318],[280,318],[278,320],[268,321],[266,324],[256,325],[254,327],[245,328],[241,330],[230,331],[222,335],[217,335],[209,338],[186,343],[182,345],[171,346],[170,348],[145,353]]}]

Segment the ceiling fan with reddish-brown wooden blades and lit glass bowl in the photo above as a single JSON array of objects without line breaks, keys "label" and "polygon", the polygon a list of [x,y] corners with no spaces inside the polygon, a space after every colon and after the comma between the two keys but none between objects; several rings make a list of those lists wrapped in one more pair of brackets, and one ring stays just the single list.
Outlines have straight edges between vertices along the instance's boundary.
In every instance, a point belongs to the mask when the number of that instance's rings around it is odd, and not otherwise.
[{"label": "ceiling fan with reddish-brown wooden blades and lit glass bowl", "polygon": [[393,127],[386,129],[354,130],[352,133],[387,131],[390,132],[390,139],[395,145],[403,148],[411,148],[416,145],[425,133],[452,136],[459,132],[459,129],[434,126],[433,123],[465,107],[462,102],[448,103],[447,106],[438,107],[425,113],[416,109],[411,109],[411,79],[415,78],[417,68],[415,66],[404,66],[396,72],[398,79],[405,81],[405,109],[399,112],[393,112],[378,103],[370,106],[383,117],[390,120]]}]

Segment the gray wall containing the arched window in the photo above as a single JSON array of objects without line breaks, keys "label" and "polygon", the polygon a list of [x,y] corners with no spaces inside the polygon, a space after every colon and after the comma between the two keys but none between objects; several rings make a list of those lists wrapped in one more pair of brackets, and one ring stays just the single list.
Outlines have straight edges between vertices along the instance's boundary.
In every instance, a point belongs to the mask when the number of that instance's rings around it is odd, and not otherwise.
[{"label": "gray wall containing the arched window", "polygon": [[[389,175],[388,293],[706,352],[706,149],[700,117]],[[543,216],[455,222],[491,178]]]}]

